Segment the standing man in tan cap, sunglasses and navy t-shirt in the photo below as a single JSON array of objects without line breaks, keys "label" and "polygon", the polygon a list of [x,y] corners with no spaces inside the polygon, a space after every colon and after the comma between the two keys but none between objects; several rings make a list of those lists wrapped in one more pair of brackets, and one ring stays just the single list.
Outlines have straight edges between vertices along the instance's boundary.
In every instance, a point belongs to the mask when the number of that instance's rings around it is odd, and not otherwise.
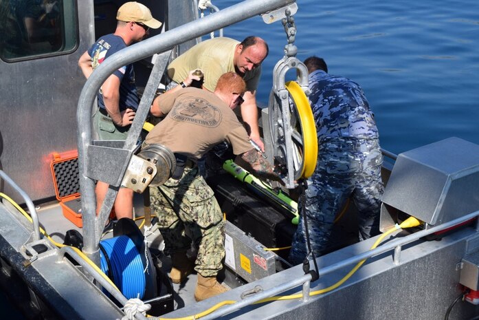
[{"label": "standing man in tan cap, sunglasses and navy t-shirt", "polygon": [[[161,22],[154,19],[146,6],[134,1],[118,9],[115,33],[101,36],[78,61],[86,78],[104,59],[132,43],[142,41],[148,29],[157,29]],[[131,127],[139,98],[133,64],[124,65],[107,78],[98,91],[98,111],[93,115],[93,127],[100,140],[125,140]],[[108,191],[108,184],[96,186],[97,211]],[[133,191],[121,188],[114,205],[116,217],[133,217]]]}]

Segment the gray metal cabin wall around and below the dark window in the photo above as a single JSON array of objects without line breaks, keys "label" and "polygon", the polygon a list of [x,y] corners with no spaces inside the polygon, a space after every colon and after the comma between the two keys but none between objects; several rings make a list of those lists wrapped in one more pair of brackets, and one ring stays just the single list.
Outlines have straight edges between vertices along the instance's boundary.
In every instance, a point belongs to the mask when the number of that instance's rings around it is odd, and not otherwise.
[{"label": "gray metal cabin wall around and below the dark window", "polygon": [[[76,105],[85,83],[78,58],[93,42],[93,0],[77,1],[73,52],[25,61],[0,60],[0,169],[32,200],[55,196],[52,153],[76,149]],[[23,203],[10,186],[0,191]]]}]

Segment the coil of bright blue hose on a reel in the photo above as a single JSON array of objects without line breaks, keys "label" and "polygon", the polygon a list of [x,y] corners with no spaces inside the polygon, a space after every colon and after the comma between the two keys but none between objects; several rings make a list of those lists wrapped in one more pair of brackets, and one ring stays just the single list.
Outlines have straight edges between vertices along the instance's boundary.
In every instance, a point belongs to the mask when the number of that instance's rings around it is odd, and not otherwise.
[{"label": "coil of bright blue hose on a reel", "polygon": [[102,240],[100,247],[100,268],[103,273],[113,276],[111,281],[126,299],[143,299],[146,288],[144,266],[133,241],[121,235]]}]

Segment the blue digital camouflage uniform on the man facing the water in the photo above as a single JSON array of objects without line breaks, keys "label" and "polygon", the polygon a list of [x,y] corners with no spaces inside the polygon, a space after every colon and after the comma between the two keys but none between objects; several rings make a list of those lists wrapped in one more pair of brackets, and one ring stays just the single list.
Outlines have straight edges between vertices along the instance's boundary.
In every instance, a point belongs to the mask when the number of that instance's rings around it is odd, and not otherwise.
[{"label": "blue digital camouflage uniform on the man facing the water", "polygon": [[308,250],[302,216],[308,218],[311,248],[326,250],[335,216],[352,198],[358,211],[359,239],[379,233],[383,183],[379,134],[359,85],[322,70],[309,74],[311,107],[318,132],[318,162],[300,196],[300,222],[289,259],[300,264]]}]

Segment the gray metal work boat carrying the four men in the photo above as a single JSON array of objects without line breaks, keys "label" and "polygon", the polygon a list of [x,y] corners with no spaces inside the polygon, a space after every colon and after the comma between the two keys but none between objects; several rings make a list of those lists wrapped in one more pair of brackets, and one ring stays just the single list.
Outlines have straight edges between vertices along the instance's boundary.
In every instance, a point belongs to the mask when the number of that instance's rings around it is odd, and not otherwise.
[{"label": "gray metal work boat carrying the four men", "polygon": [[[335,226],[335,250],[312,261],[310,270],[289,265],[278,250],[295,228],[293,189],[314,165],[315,132],[296,100],[308,94],[294,46],[294,14],[307,10],[300,1],[247,0],[220,11],[208,4],[210,14],[201,18],[196,1],[140,1],[165,21],[164,30],[111,56],[86,83],[78,58],[113,31],[124,1],[53,2],[56,8],[43,18],[48,23],[26,37],[15,25],[14,6],[0,2],[0,288],[23,317],[145,319],[144,310],[154,319],[479,319],[479,145],[471,142],[452,137],[399,155],[383,151],[382,235],[364,242],[351,237],[350,206]],[[131,159],[141,158],[137,141],[168,61],[201,36],[258,14],[265,28],[286,31],[285,57],[275,67],[261,118],[267,156],[281,162],[287,188],[273,195],[263,190],[262,197],[227,171],[212,177],[227,213],[222,279],[231,290],[197,303],[195,275],[181,285],[168,279],[170,259],[142,194],[135,194],[134,226],[115,233],[103,233],[103,226],[115,189],[131,177]],[[127,63],[135,63],[144,87],[129,138],[124,144],[94,140],[96,92]],[[298,72],[295,88],[285,83],[289,70]],[[161,158],[162,150],[154,152]],[[95,165],[98,159],[109,166]],[[167,171],[162,164],[157,170]],[[112,186],[98,217],[96,180]],[[238,213],[243,197],[255,204],[244,215]],[[406,226],[410,219],[418,223]],[[122,241],[138,266],[129,269],[114,248]],[[109,244],[113,248],[105,249]],[[112,262],[124,264],[131,278],[115,281],[105,271]]]}]

